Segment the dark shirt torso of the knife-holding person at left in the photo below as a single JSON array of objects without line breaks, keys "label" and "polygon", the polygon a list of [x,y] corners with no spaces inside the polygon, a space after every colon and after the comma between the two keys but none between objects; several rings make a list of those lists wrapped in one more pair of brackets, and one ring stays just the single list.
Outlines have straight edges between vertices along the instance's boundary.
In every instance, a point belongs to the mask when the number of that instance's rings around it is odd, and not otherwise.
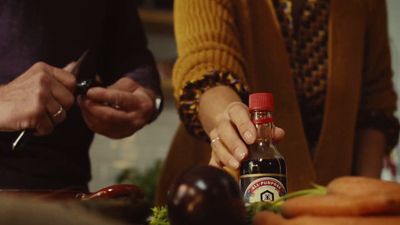
[{"label": "dark shirt torso of the knife-holding person at left", "polygon": [[[100,41],[104,0],[0,0],[0,85],[43,61],[64,67]],[[94,74],[94,64],[86,73]],[[85,188],[93,133],[75,104],[48,136],[10,150],[17,133],[0,133],[1,188]]]}]

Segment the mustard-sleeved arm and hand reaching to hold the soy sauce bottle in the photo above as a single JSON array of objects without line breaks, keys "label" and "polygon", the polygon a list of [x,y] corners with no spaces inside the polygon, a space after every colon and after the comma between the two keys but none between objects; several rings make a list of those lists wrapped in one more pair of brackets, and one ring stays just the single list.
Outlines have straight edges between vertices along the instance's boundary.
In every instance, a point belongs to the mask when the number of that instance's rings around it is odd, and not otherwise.
[{"label": "mustard-sleeved arm and hand reaching to hold the soy sauce bottle", "polygon": [[211,144],[210,163],[236,169],[247,154],[245,143],[254,142],[256,135],[242,103],[247,98],[246,62],[233,7],[229,0],[175,1],[179,57],[173,84],[188,131],[217,140]]}]

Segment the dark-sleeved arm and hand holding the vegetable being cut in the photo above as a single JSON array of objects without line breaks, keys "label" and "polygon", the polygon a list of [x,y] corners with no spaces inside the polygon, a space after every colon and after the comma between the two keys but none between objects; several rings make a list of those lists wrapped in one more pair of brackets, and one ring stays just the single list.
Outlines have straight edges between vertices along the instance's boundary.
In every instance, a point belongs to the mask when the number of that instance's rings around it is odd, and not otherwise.
[{"label": "dark-sleeved arm and hand holding the vegetable being cut", "polygon": [[159,74],[147,49],[136,1],[107,2],[103,36],[99,73],[110,86],[89,90],[80,106],[91,130],[123,138],[155,119],[155,98],[161,96]]}]

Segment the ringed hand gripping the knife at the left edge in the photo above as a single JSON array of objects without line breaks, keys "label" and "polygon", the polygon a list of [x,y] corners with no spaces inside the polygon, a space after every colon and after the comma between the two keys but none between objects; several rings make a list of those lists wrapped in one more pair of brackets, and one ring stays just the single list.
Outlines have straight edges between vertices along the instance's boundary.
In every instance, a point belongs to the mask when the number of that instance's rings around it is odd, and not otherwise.
[{"label": "ringed hand gripping the knife at the left edge", "polygon": [[0,130],[34,129],[36,135],[52,132],[74,103],[75,77],[68,70],[43,62],[34,64],[12,82],[0,86]]}]

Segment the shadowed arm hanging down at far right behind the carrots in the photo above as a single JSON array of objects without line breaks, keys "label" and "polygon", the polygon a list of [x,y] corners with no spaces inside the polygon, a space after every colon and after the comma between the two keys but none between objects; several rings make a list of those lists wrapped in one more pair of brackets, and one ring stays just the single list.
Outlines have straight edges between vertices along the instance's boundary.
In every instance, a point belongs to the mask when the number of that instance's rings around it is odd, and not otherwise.
[{"label": "shadowed arm hanging down at far right behind the carrots", "polygon": [[386,4],[385,1],[369,3],[355,173],[379,177],[385,150],[388,153],[397,143],[399,125],[394,118],[396,94],[392,84]]}]

